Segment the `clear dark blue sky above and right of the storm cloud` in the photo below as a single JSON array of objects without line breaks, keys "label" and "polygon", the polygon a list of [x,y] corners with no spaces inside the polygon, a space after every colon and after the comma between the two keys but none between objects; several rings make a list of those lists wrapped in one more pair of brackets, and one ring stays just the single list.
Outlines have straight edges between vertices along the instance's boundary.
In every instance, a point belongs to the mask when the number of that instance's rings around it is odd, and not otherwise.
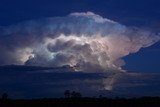
[{"label": "clear dark blue sky above and right of the storm cloud", "polygon": [[[0,0],[0,26],[92,11],[127,26],[160,32],[159,0]],[[160,71],[160,43],[125,57],[124,69]]]}]

